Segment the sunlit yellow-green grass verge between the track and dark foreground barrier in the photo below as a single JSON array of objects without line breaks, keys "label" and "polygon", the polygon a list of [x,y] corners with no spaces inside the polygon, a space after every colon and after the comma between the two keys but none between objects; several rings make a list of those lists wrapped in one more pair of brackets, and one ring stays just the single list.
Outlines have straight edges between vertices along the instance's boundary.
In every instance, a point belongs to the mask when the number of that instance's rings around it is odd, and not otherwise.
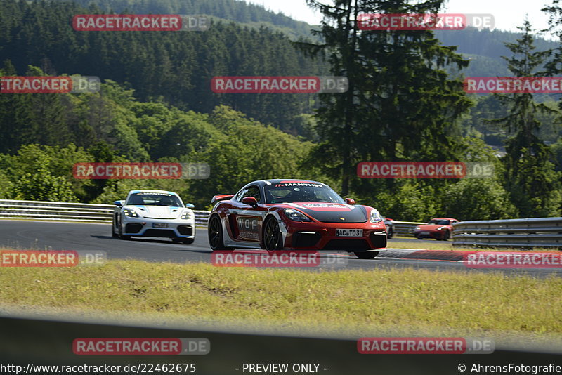
[{"label": "sunlit yellow-green grass verge between the track and dark foreground barrier", "polygon": [[214,268],[109,261],[100,267],[2,268],[0,308],[92,317],[251,322],[283,331],[381,331],[562,337],[562,279],[413,269]]}]

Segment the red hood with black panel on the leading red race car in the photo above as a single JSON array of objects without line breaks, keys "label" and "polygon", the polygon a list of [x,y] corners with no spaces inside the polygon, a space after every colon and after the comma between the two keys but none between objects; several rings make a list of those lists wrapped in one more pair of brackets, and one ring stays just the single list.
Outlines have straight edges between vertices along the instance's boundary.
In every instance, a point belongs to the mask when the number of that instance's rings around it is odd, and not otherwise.
[{"label": "red hood with black panel on the leading red race car", "polygon": [[365,223],[367,221],[367,210],[359,205],[302,202],[285,203],[284,206],[298,209],[324,223]]}]

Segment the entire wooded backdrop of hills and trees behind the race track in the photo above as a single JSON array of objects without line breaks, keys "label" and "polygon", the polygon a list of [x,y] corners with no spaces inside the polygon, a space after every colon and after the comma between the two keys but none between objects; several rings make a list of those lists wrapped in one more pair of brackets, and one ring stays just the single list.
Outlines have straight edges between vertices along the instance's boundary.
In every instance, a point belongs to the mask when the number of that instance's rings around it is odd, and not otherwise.
[{"label": "entire wooded backdrop of hills and trees behind the race track", "polygon": [[[213,23],[206,32],[72,29],[75,14],[112,11],[207,14]],[[494,120],[517,108],[462,92],[463,75],[513,74],[502,56],[511,56],[509,43],[523,32],[365,33],[355,45],[363,48],[344,62],[351,39],[337,33],[353,29],[315,30],[235,0],[1,1],[0,75],[81,74],[103,85],[98,93],[0,95],[0,198],[109,203],[152,187],[207,209],[215,193],[283,177],[322,180],[400,220],[561,214],[558,97],[528,101],[549,108],[532,114],[539,124],[533,145],[544,157],[537,164],[531,151],[514,177],[502,155],[517,151],[518,128]],[[308,51],[297,37],[309,38]],[[537,51],[559,46],[526,43]],[[213,93],[211,78],[227,75],[346,75],[350,94]],[[353,176],[361,160],[488,162],[496,172],[488,179],[361,180]],[[127,161],[207,162],[211,177],[72,178],[77,162]],[[518,190],[513,183],[525,176],[542,180]]]}]

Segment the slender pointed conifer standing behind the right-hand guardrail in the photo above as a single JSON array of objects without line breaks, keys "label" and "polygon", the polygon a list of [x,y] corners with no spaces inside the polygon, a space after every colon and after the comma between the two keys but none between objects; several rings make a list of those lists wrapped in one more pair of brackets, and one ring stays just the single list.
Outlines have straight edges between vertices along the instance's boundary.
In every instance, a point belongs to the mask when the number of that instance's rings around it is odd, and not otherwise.
[{"label": "slender pointed conifer standing behind the right-hand guardrail", "polygon": [[[518,29],[523,32],[515,43],[506,43],[511,58],[509,71],[515,77],[544,77],[547,72],[539,70],[551,51],[535,51],[535,37],[528,20]],[[492,123],[501,124],[512,136],[506,141],[505,187],[511,201],[523,217],[556,216],[560,214],[560,173],[554,171],[554,155],[544,144],[538,133],[540,113],[555,112],[544,103],[537,104],[532,93],[494,94],[508,114]]]}]

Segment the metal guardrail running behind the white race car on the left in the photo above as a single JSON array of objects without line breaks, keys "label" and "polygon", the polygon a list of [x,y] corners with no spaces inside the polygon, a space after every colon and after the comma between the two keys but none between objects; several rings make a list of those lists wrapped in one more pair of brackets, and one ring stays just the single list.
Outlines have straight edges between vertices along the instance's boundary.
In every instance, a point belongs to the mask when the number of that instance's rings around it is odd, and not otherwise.
[{"label": "metal guardrail running behind the white race car on the left", "polygon": [[[0,218],[111,223],[113,204],[0,199]],[[209,211],[193,211],[195,225],[207,226]]]}]

